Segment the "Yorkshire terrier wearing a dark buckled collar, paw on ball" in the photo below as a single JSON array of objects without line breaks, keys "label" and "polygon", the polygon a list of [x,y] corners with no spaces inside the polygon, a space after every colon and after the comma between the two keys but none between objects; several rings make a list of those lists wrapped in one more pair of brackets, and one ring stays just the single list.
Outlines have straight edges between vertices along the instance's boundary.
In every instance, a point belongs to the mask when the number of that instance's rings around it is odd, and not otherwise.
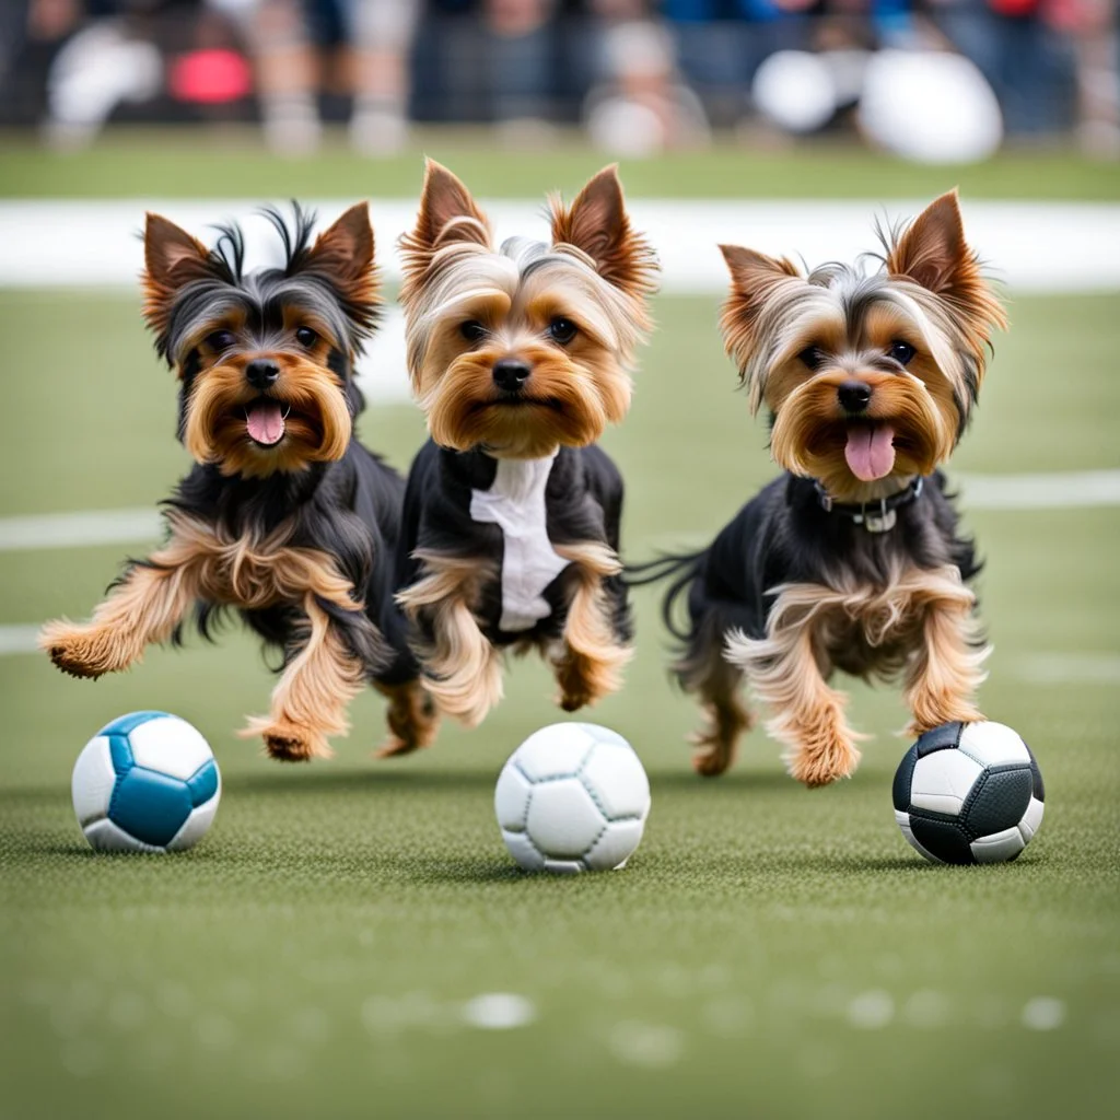
[{"label": "Yorkshire terrier wearing a dark buckled collar, paw on ball", "polygon": [[730,295],[720,326],[752,411],[771,417],[784,474],[701,552],[635,571],[668,576],[689,627],[673,666],[704,708],[694,766],[721,774],[752,718],[809,786],[859,760],[840,669],[900,676],[921,732],[978,720],[987,656],[965,582],[979,564],[937,467],[952,454],[983,379],[1004,310],[964,241],[955,192],[884,237],[871,273],[725,245]]}]

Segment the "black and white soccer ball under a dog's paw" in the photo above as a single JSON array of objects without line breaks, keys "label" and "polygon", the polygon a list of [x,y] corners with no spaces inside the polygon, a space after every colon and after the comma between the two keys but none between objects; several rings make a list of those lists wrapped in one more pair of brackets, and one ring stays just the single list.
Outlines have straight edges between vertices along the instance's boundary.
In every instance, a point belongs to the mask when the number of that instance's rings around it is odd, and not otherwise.
[{"label": "black and white soccer ball under a dog's paw", "polygon": [[1015,859],[1043,821],[1038,763],[1002,724],[942,724],[914,744],[895,774],[895,820],[936,864]]}]

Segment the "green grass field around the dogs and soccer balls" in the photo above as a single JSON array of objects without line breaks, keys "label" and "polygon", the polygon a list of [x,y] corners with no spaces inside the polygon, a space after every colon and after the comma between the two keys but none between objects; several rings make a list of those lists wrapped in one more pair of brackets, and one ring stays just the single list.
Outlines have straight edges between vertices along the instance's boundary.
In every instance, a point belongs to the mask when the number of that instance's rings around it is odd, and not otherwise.
[{"label": "green grass field around the dogs and soccer balls", "polygon": [[[93,193],[115,151],[76,165],[101,168]],[[0,192],[69,193],[44,170],[54,157],[17,156]],[[596,162],[570,159],[564,186]],[[493,162],[533,194],[560,166]],[[330,179],[329,161],[312,183],[314,166],[292,169],[297,189],[234,159],[241,177],[216,193],[371,192]],[[1034,181],[1055,166],[1042,159]],[[711,192],[735,193],[711,174]],[[906,175],[906,193],[937,188]],[[0,516],[153,504],[185,468],[172,379],[138,308],[111,292],[0,293]],[[773,470],[716,301],[655,311],[633,412],[606,440],[634,559],[712,534]],[[1116,298],[1021,298],[1011,316],[953,468],[1120,467]],[[361,433],[404,468],[422,419],[379,408]],[[853,721],[875,738],[850,782],[801,788],[760,731],[727,777],[696,778],[683,738],[697,713],[666,682],[651,594],[636,597],[627,687],[591,716],[650,772],[646,837],[625,871],[575,879],[516,871],[493,819],[505,757],[561,718],[536,664],[513,666],[482,728],[446,726],[421,756],[371,759],[371,692],[334,760],[286,768],[234,736],[271,687],[236,629],[97,683],[0,657],[0,1116],[1105,1113],[1120,1093],[1120,511],[1071,495],[967,521],[996,646],[982,707],[1021,731],[1046,778],[1042,831],[1007,866],[932,867],[904,842],[889,785],[905,716],[889,689],[852,687]],[[86,616],[125,551],[0,552],[0,624]],[[1024,669],[1039,661],[1103,669],[1045,684]],[[222,767],[217,822],[179,857],[94,855],[73,819],[81,746],[138,708],[189,719]],[[478,998],[497,992],[521,997],[528,1021],[487,1028]]]}]

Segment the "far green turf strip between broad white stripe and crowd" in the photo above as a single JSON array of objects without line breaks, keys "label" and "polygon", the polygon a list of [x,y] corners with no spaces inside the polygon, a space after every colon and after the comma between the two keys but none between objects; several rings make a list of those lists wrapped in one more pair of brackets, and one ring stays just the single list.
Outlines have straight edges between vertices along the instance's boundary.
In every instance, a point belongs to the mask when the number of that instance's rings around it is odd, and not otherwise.
[{"label": "far green turf strip between broad white stripe and crowd", "polygon": [[[535,198],[541,184],[577,189],[609,156],[561,133],[520,153],[484,130],[419,130],[396,156],[366,159],[340,136],[314,158],[269,153],[256,129],[118,129],[90,150],[58,153],[0,134],[0,197],[411,197],[424,153],[483,197]],[[759,148],[725,139],[704,151],[624,161],[633,197],[921,198],[959,185],[974,198],[1120,198],[1120,165],[1068,151],[1006,151],[984,164],[923,167],[847,143]]]}]

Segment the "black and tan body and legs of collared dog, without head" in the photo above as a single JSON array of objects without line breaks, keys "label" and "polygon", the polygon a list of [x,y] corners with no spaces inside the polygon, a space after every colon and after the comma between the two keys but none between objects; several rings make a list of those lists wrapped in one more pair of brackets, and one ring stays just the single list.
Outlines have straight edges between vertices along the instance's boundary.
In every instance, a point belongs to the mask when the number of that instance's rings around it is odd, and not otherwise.
[{"label": "black and tan body and legs of collared dog, without head", "polygon": [[[786,744],[791,766],[822,701],[818,730],[839,731],[842,741],[855,738],[839,693],[815,691],[815,676],[827,680],[837,669],[865,679],[905,675],[917,698],[923,676],[913,655],[923,628],[941,626],[931,619],[946,609],[961,625],[955,638],[936,635],[936,650],[967,679],[943,683],[954,694],[979,685],[987,647],[965,581],[980,564],[971,539],[959,531],[940,472],[897,517],[890,532],[868,533],[827,513],[812,480],[786,473],[747,502],[707,549],[665,557],[628,576],[633,585],[672,578],[663,615],[682,642],[673,670],[687,691],[700,696],[709,721],[697,740],[701,773],[722,773],[734,760],[738,732],[750,724],[737,697],[744,682],[773,709],[769,730]],[[684,628],[676,619],[681,599]],[[943,665],[941,672],[953,669]],[[974,709],[956,710],[954,718],[978,718]],[[925,719],[933,715],[921,712]],[[844,772],[857,759],[846,755]],[[821,775],[804,776],[819,784],[813,778]]]}]

